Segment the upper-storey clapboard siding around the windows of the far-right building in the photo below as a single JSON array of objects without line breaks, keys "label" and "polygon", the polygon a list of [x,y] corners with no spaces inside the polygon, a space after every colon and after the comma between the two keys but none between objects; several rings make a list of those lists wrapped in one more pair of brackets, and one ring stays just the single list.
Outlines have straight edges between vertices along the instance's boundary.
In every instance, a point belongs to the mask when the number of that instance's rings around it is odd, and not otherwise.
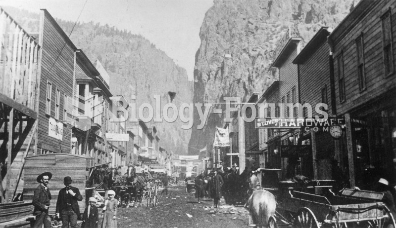
[{"label": "upper-storey clapboard siding around the windows of the far-right building", "polygon": [[[396,88],[395,71],[391,76],[385,76],[383,41],[382,41],[382,24],[381,16],[391,9],[392,17],[392,38],[393,38],[393,61],[396,61],[396,10],[395,0],[371,2],[374,7],[367,12],[352,28],[347,32],[341,33],[341,36],[334,37],[334,56],[344,54],[344,77],[346,101],[340,103],[338,80],[336,75],[336,97],[337,112],[345,114],[353,111],[358,106],[363,105],[371,99],[375,99],[387,91]],[[364,72],[366,89],[359,90],[357,56],[355,39],[363,34],[363,53],[364,53]],[[335,72],[338,65],[334,64]],[[394,67],[395,69],[395,67]]]}]

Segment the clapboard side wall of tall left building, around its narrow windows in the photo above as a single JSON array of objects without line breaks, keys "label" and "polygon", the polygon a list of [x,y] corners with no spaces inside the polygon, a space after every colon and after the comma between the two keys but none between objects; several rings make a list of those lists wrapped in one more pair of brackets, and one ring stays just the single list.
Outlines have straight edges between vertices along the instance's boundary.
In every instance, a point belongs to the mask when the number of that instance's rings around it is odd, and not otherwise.
[{"label": "clapboard side wall of tall left building, around its narrow windows", "polygon": [[[41,13],[40,43],[42,44],[42,72],[37,146],[39,149],[42,148],[52,152],[69,153],[70,127],[63,126],[63,139],[61,141],[54,139],[49,136],[49,117],[55,117],[56,89],[59,89],[61,93],[59,120],[63,120],[64,94],[70,98],[72,97],[74,50],[72,45],[68,43],[68,40],[59,33],[56,22],[52,20],[51,16],[44,10]],[[52,83],[50,115],[46,114],[47,81]],[[40,152],[38,151],[38,153]]]}]

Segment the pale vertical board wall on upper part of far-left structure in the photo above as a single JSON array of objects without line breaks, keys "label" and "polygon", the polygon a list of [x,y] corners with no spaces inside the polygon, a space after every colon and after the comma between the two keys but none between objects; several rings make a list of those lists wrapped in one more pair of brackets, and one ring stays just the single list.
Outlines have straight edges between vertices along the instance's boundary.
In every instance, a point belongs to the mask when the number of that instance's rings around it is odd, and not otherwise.
[{"label": "pale vertical board wall on upper part of far-left structure", "polygon": [[40,46],[0,8],[0,93],[35,110]]}]

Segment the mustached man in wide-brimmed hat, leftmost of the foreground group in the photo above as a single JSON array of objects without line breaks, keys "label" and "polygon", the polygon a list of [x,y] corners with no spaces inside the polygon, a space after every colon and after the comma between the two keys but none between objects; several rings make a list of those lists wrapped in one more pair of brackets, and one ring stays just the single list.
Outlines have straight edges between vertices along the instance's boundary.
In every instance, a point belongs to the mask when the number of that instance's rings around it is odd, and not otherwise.
[{"label": "mustached man in wide-brimmed hat, leftmost of the foreground group", "polygon": [[37,177],[37,182],[40,185],[36,188],[33,195],[33,216],[36,216],[35,221],[31,224],[33,228],[51,228],[51,219],[48,216],[48,209],[51,201],[51,193],[48,189],[48,183],[52,178],[52,173],[45,172]]}]

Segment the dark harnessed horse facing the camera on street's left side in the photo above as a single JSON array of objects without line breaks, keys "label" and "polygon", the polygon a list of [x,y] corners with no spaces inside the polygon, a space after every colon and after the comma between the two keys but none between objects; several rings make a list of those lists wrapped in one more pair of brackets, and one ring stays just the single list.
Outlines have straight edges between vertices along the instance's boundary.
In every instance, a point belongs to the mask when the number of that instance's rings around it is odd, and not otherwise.
[{"label": "dark harnessed horse facing the camera on street's left side", "polygon": [[[138,206],[140,205],[142,201],[142,194],[143,190],[145,189],[145,178],[142,176],[136,175],[136,169],[135,167],[131,166],[128,167],[128,172],[125,174],[125,180],[126,180],[126,185],[127,186],[132,186],[127,188],[127,195],[128,195],[128,201],[127,201],[127,207],[129,207],[131,203],[131,196],[133,195],[135,197],[134,201],[134,207],[135,203],[139,202]],[[139,199],[139,201],[138,201]]]}]

